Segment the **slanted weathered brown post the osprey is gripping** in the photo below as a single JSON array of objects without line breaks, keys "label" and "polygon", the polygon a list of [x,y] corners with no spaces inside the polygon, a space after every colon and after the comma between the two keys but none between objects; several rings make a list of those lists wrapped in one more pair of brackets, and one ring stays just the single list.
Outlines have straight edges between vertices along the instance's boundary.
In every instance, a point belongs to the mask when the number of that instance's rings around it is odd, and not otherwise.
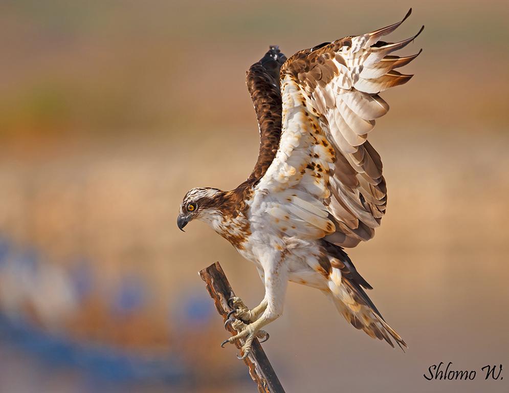
[{"label": "slanted weathered brown post the osprey is gripping", "polygon": [[[219,265],[219,262],[216,262],[208,268],[201,270],[199,274],[202,280],[205,281],[207,291],[209,291],[210,297],[214,300],[217,312],[223,316],[223,321],[226,321],[227,314],[232,310],[228,305],[228,299],[235,296],[235,294],[221,265]],[[231,326],[231,323],[226,325],[226,329],[232,336],[238,333]],[[241,341],[235,341],[235,345],[239,349],[244,344],[244,341]],[[248,366],[249,374],[253,381],[257,383],[260,393],[284,393],[284,389],[269,359],[267,359],[267,355],[263,352],[258,339],[254,339],[251,353],[244,359],[244,363]]]}]

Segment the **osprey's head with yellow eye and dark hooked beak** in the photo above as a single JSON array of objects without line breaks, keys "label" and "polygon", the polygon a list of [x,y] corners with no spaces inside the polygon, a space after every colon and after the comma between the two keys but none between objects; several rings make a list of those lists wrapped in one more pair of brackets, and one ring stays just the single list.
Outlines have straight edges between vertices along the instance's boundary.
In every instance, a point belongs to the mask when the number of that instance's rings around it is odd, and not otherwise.
[{"label": "osprey's head with yellow eye and dark hooked beak", "polygon": [[180,204],[177,226],[181,231],[192,220],[197,219],[213,226],[214,221],[221,217],[218,206],[224,191],[217,188],[193,188],[185,195]]}]

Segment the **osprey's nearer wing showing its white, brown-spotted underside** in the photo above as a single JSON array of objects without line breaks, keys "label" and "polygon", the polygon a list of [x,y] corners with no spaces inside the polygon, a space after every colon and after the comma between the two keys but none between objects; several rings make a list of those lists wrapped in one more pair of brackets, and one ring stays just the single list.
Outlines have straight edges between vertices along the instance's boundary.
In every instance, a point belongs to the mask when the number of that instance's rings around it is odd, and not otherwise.
[{"label": "osprey's nearer wing showing its white, brown-spotted underside", "polygon": [[268,213],[288,236],[354,247],[380,225],[387,189],[367,135],[389,109],[379,93],[412,77],[394,69],[418,55],[391,53],[422,29],[401,42],[380,38],[410,12],[394,25],[297,52],[281,67],[281,139],[254,197],[270,202]]}]

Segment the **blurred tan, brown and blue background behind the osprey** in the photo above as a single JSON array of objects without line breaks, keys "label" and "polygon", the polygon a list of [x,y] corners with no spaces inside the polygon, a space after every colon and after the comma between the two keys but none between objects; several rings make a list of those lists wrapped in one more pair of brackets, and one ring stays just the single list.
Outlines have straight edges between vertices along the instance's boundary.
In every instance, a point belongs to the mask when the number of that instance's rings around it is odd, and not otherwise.
[{"label": "blurred tan, brown and blue background behind the osprey", "polygon": [[[504,1],[0,2],[0,392],[252,392],[197,271],[249,305],[252,264],[202,223],[258,152],[245,71],[412,16],[416,76],[371,134],[388,214],[349,254],[406,354],[291,284],[263,344],[287,392],[509,391],[509,7]],[[426,381],[432,364],[475,381]],[[126,390],[127,389],[127,390]]]}]

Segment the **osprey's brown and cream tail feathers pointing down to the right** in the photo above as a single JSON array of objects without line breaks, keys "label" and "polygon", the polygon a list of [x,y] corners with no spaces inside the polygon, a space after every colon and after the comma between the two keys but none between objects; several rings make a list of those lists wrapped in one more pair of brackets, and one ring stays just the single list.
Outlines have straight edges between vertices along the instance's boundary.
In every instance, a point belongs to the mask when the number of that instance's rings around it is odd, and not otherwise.
[{"label": "osprey's brown and cream tail feathers pointing down to the right", "polygon": [[377,310],[365,289],[372,289],[357,272],[348,255],[339,246],[327,245],[330,261],[328,296],[338,311],[355,328],[363,330],[372,338],[385,340],[394,347],[393,341],[403,350],[407,344],[392,329]]}]

